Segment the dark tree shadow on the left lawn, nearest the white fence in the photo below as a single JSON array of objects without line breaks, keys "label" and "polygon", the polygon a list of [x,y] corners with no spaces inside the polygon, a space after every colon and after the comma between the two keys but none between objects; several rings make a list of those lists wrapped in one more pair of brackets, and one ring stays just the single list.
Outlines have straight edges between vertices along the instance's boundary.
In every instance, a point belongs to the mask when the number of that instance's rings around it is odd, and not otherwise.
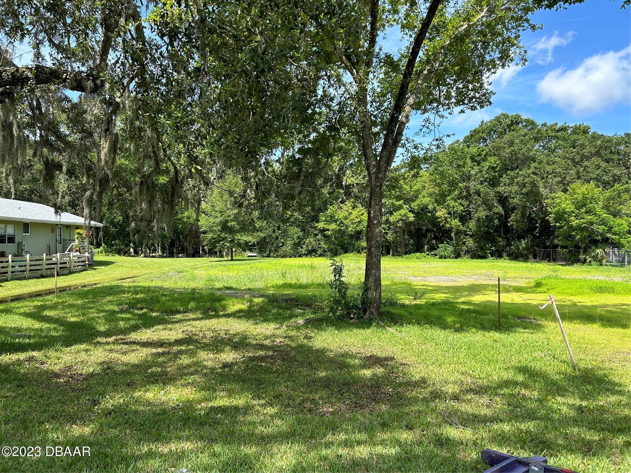
[{"label": "dark tree shadow on the left lawn, nearest the white fence", "polygon": [[[207,317],[226,307],[225,296],[178,290],[107,284],[59,295],[0,305],[3,353],[72,346],[99,337],[129,334],[148,327],[177,324],[182,318]],[[33,323],[34,322],[34,323]],[[14,337],[13,334],[29,334]]]}]

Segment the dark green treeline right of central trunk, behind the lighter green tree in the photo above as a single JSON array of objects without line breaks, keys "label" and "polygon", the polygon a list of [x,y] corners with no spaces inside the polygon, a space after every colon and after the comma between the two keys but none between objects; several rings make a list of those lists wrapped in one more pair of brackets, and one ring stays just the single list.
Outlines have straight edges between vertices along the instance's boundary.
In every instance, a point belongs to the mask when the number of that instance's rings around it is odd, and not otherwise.
[{"label": "dark green treeline right of central trunk, behind the lighter green tree", "polygon": [[[616,216],[630,216],[631,135],[603,136],[588,126],[538,125],[519,115],[498,115],[437,153],[413,158],[393,173],[389,201],[413,217],[394,248],[425,251],[450,242],[456,255],[527,257],[534,246],[572,247],[559,240],[555,194],[573,184],[626,186]],[[626,197],[624,197],[626,196]],[[392,204],[396,207],[397,204]],[[392,214],[393,216],[396,214]],[[593,230],[589,243],[628,244],[628,228],[609,237]],[[611,233],[611,231],[609,232]],[[620,240],[622,238],[622,241]],[[588,243],[584,242],[583,246]]]}]

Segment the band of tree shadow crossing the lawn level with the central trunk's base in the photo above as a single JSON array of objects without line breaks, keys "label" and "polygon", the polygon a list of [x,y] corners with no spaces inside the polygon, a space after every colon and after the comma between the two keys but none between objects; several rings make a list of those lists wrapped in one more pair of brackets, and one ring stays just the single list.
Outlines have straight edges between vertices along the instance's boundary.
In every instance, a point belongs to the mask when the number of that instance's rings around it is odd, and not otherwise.
[{"label": "band of tree shadow crossing the lawn level with the central trunk's base", "polygon": [[[536,303],[502,302],[502,328],[498,329],[494,301],[473,301],[467,297],[492,295],[492,285],[432,286],[422,301],[407,307],[388,307],[389,324],[423,324],[456,332],[468,330],[541,330],[542,325],[517,320],[518,317],[541,318]],[[528,295],[528,289],[522,289]],[[459,298],[455,298],[457,295]],[[0,305],[0,344],[2,353],[72,346],[112,334],[129,334],[156,325],[177,324],[184,319],[238,317],[252,324],[283,325],[298,317],[321,317],[322,300],[315,295],[267,298],[230,298],[202,288],[168,288],[139,284],[107,284],[63,293],[57,301],[52,296]],[[228,307],[246,305],[234,312]],[[530,310],[529,310],[530,309]],[[628,313],[621,307],[608,307],[606,316],[596,320],[591,310],[572,310],[563,314],[570,321],[627,328]],[[596,308],[594,308],[596,310]],[[548,310],[549,312],[549,310]],[[388,316],[391,315],[391,317]],[[548,314],[549,315],[549,314]],[[33,323],[34,322],[34,323]],[[360,330],[370,323],[314,322],[315,330]],[[15,337],[14,334],[29,334]]]}]

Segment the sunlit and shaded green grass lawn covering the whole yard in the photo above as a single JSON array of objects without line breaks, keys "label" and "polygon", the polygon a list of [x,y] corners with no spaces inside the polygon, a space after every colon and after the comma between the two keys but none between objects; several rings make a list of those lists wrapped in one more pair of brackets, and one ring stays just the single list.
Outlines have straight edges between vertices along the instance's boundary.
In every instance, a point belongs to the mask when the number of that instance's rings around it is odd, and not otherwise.
[{"label": "sunlit and shaded green grass lawn covering the whole yard", "polygon": [[[326,318],[328,264],[100,257],[59,284],[103,284],[0,305],[3,446],[91,447],[0,471],[475,471],[483,448],[631,470],[628,269],[385,258],[392,333]],[[503,288],[501,329],[497,277],[536,299]]]}]

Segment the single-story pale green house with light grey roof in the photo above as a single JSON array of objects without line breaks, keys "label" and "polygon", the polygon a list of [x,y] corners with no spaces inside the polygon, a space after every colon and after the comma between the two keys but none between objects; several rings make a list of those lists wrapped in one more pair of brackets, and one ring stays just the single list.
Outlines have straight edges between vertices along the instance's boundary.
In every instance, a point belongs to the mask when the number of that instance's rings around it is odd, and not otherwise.
[{"label": "single-story pale green house with light grey roof", "polygon": [[[83,228],[83,217],[55,213],[53,207],[35,202],[0,199],[0,252],[23,256],[64,253],[74,243],[74,230]],[[90,227],[102,223],[90,221]]]}]

